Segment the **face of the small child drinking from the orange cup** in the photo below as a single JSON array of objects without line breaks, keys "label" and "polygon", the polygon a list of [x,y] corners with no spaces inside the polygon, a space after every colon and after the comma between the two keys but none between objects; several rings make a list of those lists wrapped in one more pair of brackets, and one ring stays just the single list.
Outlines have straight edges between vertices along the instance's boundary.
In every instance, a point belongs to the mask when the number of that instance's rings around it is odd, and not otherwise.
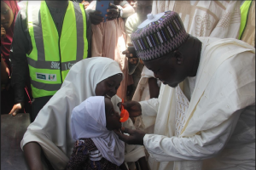
[{"label": "face of the small child drinking from the orange cup", "polygon": [[108,130],[121,128],[119,113],[113,110],[113,104],[110,99],[105,98],[105,112],[106,112],[106,127]]}]

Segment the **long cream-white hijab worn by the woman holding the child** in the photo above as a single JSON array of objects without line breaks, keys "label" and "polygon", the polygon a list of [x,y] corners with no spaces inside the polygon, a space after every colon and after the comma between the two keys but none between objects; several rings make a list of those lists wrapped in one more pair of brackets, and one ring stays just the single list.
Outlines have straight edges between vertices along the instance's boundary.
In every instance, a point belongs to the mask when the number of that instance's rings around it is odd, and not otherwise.
[{"label": "long cream-white hijab worn by the woman holding the child", "polygon": [[[94,57],[83,59],[72,66],[56,94],[39,111],[35,121],[27,127],[21,140],[21,149],[29,142],[37,142],[55,169],[64,169],[73,150],[70,117],[73,108],[90,96],[95,96],[98,82],[123,74],[113,59]],[[119,102],[117,95],[111,99],[114,109]]]}]

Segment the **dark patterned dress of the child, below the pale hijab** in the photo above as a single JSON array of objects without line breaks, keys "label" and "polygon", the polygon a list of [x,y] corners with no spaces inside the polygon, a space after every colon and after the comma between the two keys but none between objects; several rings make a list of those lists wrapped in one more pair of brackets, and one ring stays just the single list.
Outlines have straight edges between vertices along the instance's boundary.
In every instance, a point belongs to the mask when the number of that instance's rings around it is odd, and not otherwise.
[{"label": "dark patterned dress of the child, below the pale hijab", "polygon": [[96,150],[98,149],[91,139],[77,140],[66,170],[119,170],[117,165],[103,157],[100,161],[91,161],[90,158]]}]

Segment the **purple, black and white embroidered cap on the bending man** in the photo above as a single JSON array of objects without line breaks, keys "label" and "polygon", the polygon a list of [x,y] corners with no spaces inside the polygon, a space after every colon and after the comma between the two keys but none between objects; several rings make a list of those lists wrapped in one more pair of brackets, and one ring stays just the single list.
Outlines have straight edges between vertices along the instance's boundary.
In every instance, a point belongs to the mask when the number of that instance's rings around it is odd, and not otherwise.
[{"label": "purple, black and white embroidered cap on the bending man", "polygon": [[138,26],[137,31],[131,34],[131,42],[136,49],[137,57],[143,61],[157,59],[172,52],[189,37],[183,21],[174,11],[166,11],[158,20],[150,18],[143,22],[148,22],[146,26]]}]

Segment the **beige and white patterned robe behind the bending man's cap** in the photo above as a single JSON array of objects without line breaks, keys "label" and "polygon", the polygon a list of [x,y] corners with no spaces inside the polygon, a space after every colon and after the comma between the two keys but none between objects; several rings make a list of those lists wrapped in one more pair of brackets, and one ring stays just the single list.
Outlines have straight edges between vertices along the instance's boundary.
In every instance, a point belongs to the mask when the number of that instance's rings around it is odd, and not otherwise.
[{"label": "beige and white patterned robe behind the bending man's cap", "polygon": [[194,37],[238,38],[241,2],[153,1],[152,14],[159,14],[167,10],[175,11],[183,21],[185,30]]}]

